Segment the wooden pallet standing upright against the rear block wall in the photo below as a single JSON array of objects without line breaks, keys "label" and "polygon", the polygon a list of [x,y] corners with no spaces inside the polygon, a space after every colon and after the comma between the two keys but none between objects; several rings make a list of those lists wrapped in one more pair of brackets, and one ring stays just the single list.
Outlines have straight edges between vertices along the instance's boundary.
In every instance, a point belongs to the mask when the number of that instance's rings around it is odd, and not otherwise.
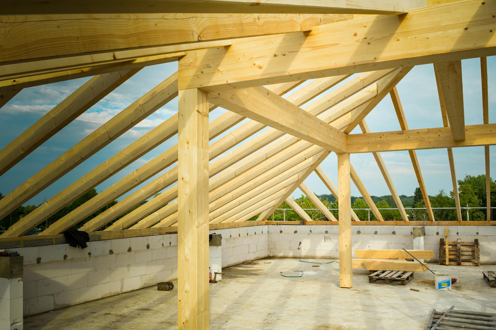
[{"label": "wooden pallet standing upright against the rear block wall", "polygon": [[[479,239],[473,242],[448,241],[449,265],[458,266],[480,266],[479,260]],[[439,265],[446,264],[446,248],[444,238],[439,239]]]}]

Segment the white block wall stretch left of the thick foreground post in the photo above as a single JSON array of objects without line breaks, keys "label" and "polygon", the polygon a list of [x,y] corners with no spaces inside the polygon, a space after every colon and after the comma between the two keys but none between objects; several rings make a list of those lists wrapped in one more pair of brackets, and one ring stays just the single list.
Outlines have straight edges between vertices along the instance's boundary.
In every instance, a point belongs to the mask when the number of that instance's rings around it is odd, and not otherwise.
[{"label": "white block wall stretch left of the thick foreground post", "polygon": [[[177,234],[24,247],[23,315],[177,279]],[[3,329],[3,328],[2,328]]]}]

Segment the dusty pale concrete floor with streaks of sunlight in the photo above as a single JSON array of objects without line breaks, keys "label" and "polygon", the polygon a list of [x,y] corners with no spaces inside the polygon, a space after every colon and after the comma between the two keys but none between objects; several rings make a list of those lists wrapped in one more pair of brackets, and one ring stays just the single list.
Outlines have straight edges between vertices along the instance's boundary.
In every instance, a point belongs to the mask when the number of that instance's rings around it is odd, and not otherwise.
[{"label": "dusty pale concrete floor with streaks of sunlight", "polygon": [[[433,279],[430,272],[415,273],[405,286],[392,286],[369,283],[366,270],[354,270],[353,288],[339,288],[336,262],[312,265],[299,259],[267,258],[226,268],[222,282],[210,284],[210,329],[415,330],[425,329],[433,308],[444,311],[455,305],[496,313],[496,288],[482,279],[482,271],[496,271],[496,265],[430,264],[433,270],[458,279],[451,291],[438,291],[434,284],[422,282]],[[291,275],[294,270],[302,270],[303,277],[280,274]],[[177,286],[173,291],[152,286],[25,318],[24,329],[177,329]]]}]

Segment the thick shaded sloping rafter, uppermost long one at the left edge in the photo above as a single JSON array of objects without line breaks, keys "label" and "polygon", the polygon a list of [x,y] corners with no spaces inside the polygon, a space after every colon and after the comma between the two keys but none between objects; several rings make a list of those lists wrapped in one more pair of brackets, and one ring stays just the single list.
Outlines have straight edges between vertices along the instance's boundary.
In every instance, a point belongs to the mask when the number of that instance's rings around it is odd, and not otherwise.
[{"label": "thick shaded sloping rafter, uppermost long one at the left edge", "polygon": [[[84,83],[0,150],[0,175],[138,71],[134,69],[98,75]],[[7,93],[16,94],[17,91]]]}]

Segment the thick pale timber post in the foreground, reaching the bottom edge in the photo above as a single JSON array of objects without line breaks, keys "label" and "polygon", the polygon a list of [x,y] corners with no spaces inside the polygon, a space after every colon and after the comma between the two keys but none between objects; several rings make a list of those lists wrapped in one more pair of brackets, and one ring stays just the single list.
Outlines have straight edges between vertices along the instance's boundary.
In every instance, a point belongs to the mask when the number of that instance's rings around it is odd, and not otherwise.
[{"label": "thick pale timber post in the foreground, reaching the bottom edge", "polygon": [[208,94],[179,91],[178,329],[209,329]]}]

